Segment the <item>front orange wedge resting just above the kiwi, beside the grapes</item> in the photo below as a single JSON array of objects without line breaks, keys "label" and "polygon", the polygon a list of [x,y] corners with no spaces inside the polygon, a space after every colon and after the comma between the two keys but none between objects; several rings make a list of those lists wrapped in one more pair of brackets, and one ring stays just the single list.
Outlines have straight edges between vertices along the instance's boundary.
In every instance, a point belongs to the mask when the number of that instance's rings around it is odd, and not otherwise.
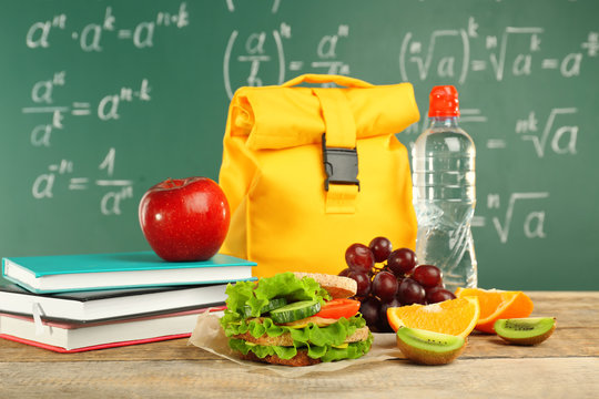
[{"label": "front orange wedge resting just above the kiwi, beside the grapes", "polygon": [[478,298],[465,297],[433,305],[409,305],[387,309],[392,328],[419,328],[466,338],[475,328],[480,315]]}]

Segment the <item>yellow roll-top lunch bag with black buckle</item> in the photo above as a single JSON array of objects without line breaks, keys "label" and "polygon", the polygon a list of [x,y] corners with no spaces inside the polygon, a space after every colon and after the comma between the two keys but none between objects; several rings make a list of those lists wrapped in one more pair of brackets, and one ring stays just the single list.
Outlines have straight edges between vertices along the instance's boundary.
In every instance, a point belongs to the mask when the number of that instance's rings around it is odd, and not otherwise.
[{"label": "yellow roll-top lunch bag with black buckle", "polygon": [[305,74],[238,89],[219,177],[231,206],[221,252],[266,277],[338,274],[349,245],[377,236],[414,249],[408,154],[395,134],[418,119],[409,83]]}]

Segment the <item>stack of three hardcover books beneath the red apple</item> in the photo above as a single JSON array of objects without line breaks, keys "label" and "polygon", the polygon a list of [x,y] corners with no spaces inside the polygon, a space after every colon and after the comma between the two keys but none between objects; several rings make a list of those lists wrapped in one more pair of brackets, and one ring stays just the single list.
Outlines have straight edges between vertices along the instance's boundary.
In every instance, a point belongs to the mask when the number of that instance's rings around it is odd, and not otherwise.
[{"label": "stack of three hardcover books beneath the red apple", "polygon": [[153,252],[3,258],[0,337],[60,352],[189,337],[199,314],[224,310],[229,283],[254,279],[253,266]]}]

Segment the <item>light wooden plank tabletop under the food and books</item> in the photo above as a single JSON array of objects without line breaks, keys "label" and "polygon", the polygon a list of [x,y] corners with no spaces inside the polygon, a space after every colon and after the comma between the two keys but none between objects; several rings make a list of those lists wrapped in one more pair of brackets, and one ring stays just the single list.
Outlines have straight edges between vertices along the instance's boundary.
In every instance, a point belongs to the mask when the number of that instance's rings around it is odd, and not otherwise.
[{"label": "light wooden plank tabletop under the food and books", "polygon": [[556,316],[537,347],[473,334],[447,366],[392,359],[281,377],[219,358],[186,339],[61,355],[0,339],[0,398],[599,398],[599,291],[528,293]]}]

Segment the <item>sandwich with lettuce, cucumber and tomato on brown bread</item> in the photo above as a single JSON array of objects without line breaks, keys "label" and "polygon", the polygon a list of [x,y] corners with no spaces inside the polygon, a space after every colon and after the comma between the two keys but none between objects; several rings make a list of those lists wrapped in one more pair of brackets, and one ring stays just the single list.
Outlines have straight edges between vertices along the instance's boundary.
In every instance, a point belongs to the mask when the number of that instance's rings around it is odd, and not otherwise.
[{"label": "sandwich with lettuce, cucumber and tomato on brown bread", "polygon": [[356,359],[373,335],[352,278],[282,273],[226,288],[221,326],[242,359],[285,366]]}]

